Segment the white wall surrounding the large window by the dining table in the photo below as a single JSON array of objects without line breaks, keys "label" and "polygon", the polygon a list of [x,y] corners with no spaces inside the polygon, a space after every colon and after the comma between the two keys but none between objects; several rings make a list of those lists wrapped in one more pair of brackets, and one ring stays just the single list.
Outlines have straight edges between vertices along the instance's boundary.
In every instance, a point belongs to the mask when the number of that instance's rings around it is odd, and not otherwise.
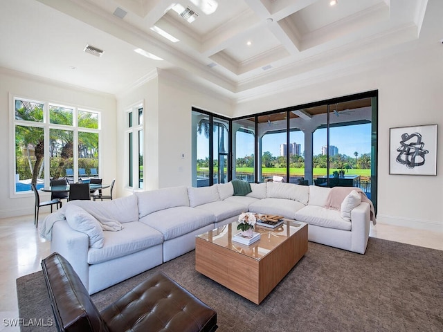
[{"label": "white wall surrounding the large window by the dining table", "polygon": [[[33,193],[10,198],[10,181],[14,181],[10,175],[14,172],[10,147],[15,144],[10,138],[10,117],[13,119],[14,107],[10,104],[11,95],[101,111],[102,128],[107,130],[103,130],[100,137],[100,172],[104,182],[116,176],[116,99],[113,95],[75,89],[0,68],[0,218],[34,213]],[[49,194],[42,194],[42,199],[49,198]],[[46,210],[49,208],[42,208],[42,212]]]}]

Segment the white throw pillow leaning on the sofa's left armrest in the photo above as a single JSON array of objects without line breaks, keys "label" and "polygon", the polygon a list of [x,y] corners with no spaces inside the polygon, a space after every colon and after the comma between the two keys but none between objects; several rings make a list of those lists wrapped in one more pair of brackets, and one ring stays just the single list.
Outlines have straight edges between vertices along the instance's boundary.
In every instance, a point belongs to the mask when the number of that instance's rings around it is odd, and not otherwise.
[{"label": "white throw pillow leaning on the sofa's left armrest", "polygon": [[105,238],[103,230],[96,218],[88,212],[74,204],[67,204],[65,211],[66,221],[73,230],[82,232],[89,237],[89,246],[100,249],[103,247]]}]

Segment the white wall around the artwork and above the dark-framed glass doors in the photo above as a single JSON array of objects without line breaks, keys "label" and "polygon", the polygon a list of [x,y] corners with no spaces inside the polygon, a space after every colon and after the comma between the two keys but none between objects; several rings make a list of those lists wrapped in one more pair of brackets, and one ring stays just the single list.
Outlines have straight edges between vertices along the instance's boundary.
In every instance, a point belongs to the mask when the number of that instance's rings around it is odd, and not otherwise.
[{"label": "white wall around the artwork and above the dark-framed glass doors", "polygon": [[[358,75],[341,75],[237,105],[235,116],[363,91],[379,91],[378,215],[381,223],[443,232],[442,46],[397,54]],[[389,129],[437,124],[437,176],[389,174]]]}]

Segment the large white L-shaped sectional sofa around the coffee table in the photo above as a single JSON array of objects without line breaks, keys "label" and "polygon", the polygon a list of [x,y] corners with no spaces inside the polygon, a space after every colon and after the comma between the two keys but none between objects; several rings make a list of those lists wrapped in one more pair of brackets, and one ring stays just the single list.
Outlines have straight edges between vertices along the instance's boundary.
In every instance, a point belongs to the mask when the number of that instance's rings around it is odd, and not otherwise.
[{"label": "large white L-shaped sectional sofa around the coffee table", "polygon": [[325,208],[329,188],[268,182],[251,183],[251,190],[237,196],[226,183],[136,192],[107,202],[71,201],[47,216],[39,230],[90,294],[193,250],[197,234],[246,211],[305,221],[309,241],[364,254],[369,203],[358,202],[345,220],[341,211]]}]

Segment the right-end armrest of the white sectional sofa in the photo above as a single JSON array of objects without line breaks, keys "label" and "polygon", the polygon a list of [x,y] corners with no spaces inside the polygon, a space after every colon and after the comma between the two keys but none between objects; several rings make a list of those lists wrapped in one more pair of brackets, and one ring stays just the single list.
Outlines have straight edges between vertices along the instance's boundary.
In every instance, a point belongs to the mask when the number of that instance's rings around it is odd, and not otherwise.
[{"label": "right-end armrest of the white sectional sofa", "polygon": [[351,250],[364,254],[370,229],[370,205],[361,202],[351,211]]}]

